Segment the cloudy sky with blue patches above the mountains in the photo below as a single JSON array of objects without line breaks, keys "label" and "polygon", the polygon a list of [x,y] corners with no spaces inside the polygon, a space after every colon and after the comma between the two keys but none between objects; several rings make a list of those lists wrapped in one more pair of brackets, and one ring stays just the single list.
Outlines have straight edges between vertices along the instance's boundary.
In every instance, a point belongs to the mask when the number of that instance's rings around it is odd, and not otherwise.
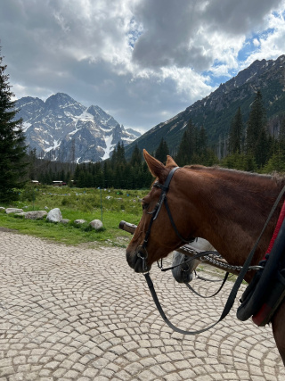
[{"label": "cloudy sky with blue patches above the mountains", "polygon": [[15,98],[66,93],[141,133],[285,54],[285,0],[0,0]]}]

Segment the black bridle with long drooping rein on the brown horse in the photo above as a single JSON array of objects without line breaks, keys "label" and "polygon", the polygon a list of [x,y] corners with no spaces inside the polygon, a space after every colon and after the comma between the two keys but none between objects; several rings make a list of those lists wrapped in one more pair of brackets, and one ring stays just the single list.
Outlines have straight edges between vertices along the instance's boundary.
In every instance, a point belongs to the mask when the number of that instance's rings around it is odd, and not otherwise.
[{"label": "black bridle with long drooping rein on the brown horse", "polygon": [[[264,228],[262,229],[260,235],[258,236],[258,238],[257,238],[257,240],[256,240],[256,244],[254,244],[252,250],[251,250],[250,253],[248,254],[248,258],[247,258],[247,260],[244,262],[243,267],[240,269],[240,274],[239,274],[239,276],[237,277],[237,279],[236,279],[234,285],[232,286],[232,291],[231,291],[231,293],[230,293],[229,296],[228,296],[227,302],[226,302],[225,305],[224,305],[224,311],[222,312],[220,318],[219,318],[215,323],[213,323],[212,325],[210,325],[209,327],[206,327],[206,328],[203,328],[203,329],[199,329],[199,330],[197,330],[197,331],[186,331],[186,330],[180,329],[179,327],[175,327],[175,326],[174,326],[174,325],[167,319],[167,316],[166,316],[165,312],[163,311],[163,309],[162,309],[162,307],[161,307],[161,305],[160,305],[160,303],[159,303],[159,298],[158,298],[158,296],[157,296],[157,294],[156,294],[156,292],[155,292],[153,283],[152,283],[152,281],[151,281],[150,272],[148,271],[148,269],[147,269],[147,265],[146,265],[146,260],[147,260],[147,256],[148,256],[147,251],[146,251],[146,245],[147,245],[147,243],[148,243],[148,239],[149,239],[149,236],[150,236],[150,234],[151,234],[152,223],[153,223],[153,221],[154,221],[155,219],[157,219],[157,217],[158,217],[158,215],[159,215],[159,211],[160,211],[161,206],[162,206],[163,203],[166,203],[168,216],[171,216],[170,210],[169,210],[169,208],[168,208],[168,204],[167,204],[167,202],[165,202],[165,200],[167,199],[167,191],[168,191],[168,189],[169,189],[170,181],[171,181],[171,179],[172,179],[172,177],[173,177],[173,175],[174,175],[174,173],[175,173],[175,170],[178,170],[178,169],[179,169],[179,167],[175,167],[173,170],[171,170],[171,171],[169,172],[169,174],[168,174],[168,176],[167,176],[166,183],[165,183],[164,186],[163,186],[163,185],[160,185],[160,184],[157,185],[157,186],[161,189],[161,195],[160,195],[160,198],[159,198],[159,203],[157,203],[157,205],[156,205],[154,211],[152,211],[153,214],[152,214],[152,218],[151,218],[150,226],[149,226],[149,228],[148,228],[148,231],[147,231],[147,233],[146,233],[146,235],[145,235],[143,244],[142,244],[142,246],[141,246],[143,252],[141,253],[140,251],[138,251],[137,256],[138,256],[139,258],[142,259],[142,269],[143,269],[143,271],[145,270],[145,271],[143,272],[143,275],[144,275],[144,277],[145,277],[145,279],[146,279],[146,282],[147,282],[147,284],[148,284],[148,286],[149,286],[149,288],[150,288],[152,299],[153,299],[153,301],[155,302],[155,304],[156,304],[156,306],[157,306],[157,309],[158,309],[158,311],[159,311],[159,313],[160,313],[161,318],[167,323],[167,326],[168,326],[168,327],[171,327],[175,332],[180,333],[180,334],[182,334],[182,335],[199,335],[199,334],[201,334],[201,333],[203,333],[203,332],[208,331],[208,329],[210,329],[210,328],[212,328],[212,327],[215,327],[216,324],[218,324],[220,321],[222,321],[222,320],[228,315],[228,313],[232,310],[232,305],[233,305],[233,303],[234,303],[234,301],[235,301],[235,298],[236,298],[236,295],[237,295],[237,293],[238,293],[238,291],[239,291],[239,289],[240,289],[240,285],[241,285],[241,283],[242,283],[242,280],[243,280],[243,278],[245,277],[245,275],[246,275],[246,273],[247,273],[247,271],[248,271],[248,269],[249,269],[249,265],[250,265],[250,262],[252,261],[252,259],[253,259],[253,257],[254,257],[254,254],[256,253],[256,247],[257,247],[257,245],[259,244],[259,241],[260,241],[261,237],[263,236],[263,234],[264,234],[264,232],[265,232],[265,228],[267,227],[269,221],[272,219],[272,217],[273,217],[273,213],[274,213],[274,211],[276,210],[278,204],[280,203],[282,195],[284,195],[284,193],[285,193],[285,186],[282,188],[281,193],[278,195],[278,197],[277,197],[275,203],[273,204],[273,208],[272,208],[272,210],[270,211],[270,213],[269,213],[269,215],[268,215],[268,217],[267,217],[267,219],[266,219],[266,221],[265,221],[265,226],[264,226]],[[169,217],[169,219],[170,219],[170,217]],[[171,216],[170,221],[171,221],[172,226],[175,227],[175,223],[174,223],[174,221],[173,221],[173,219],[172,219],[172,216]],[[175,227],[175,233],[176,233],[176,234],[178,233],[176,227]],[[177,236],[178,236],[180,239],[182,238],[179,234],[177,234]],[[190,242],[190,240],[184,240],[184,239],[183,239],[183,242]],[[199,253],[199,254],[202,254],[202,253]],[[199,255],[199,254],[198,254],[198,255]],[[204,255],[205,255],[205,254],[204,254]],[[199,255],[199,257],[202,257],[202,256],[203,256],[203,255]],[[193,259],[195,259],[195,258],[193,258]],[[196,259],[197,259],[197,257],[196,257]],[[225,282],[225,281],[224,281],[224,282]]]}]

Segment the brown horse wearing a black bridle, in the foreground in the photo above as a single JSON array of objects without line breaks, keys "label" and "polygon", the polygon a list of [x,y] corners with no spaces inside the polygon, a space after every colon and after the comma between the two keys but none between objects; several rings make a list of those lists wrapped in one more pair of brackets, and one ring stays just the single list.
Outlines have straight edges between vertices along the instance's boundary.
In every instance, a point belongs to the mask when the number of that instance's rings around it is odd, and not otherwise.
[{"label": "brown horse wearing a black bridle, in the foreground", "polygon": [[[165,184],[170,170],[176,167],[168,156],[167,165],[153,158],[145,150],[144,159],[159,184]],[[152,186],[142,200],[142,219],[126,248],[126,260],[136,271],[143,271],[141,255],[147,253],[147,269],[184,243],[182,237],[202,237],[233,265],[242,266],[262,231],[273,203],[285,185],[284,178],[256,175],[237,170],[186,166],[175,171],[167,192],[167,204],[172,214],[171,223],[167,207],[163,205],[152,223],[147,244],[143,244],[151,223],[151,211],[159,201],[161,189]],[[265,228],[256,247],[252,265],[263,258],[281,211],[282,197],[273,218]],[[175,231],[176,230],[176,231]],[[177,235],[179,232],[179,236]],[[245,280],[253,277],[248,272]],[[285,302],[281,302],[272,319],[273,335],[285,364]]]}]

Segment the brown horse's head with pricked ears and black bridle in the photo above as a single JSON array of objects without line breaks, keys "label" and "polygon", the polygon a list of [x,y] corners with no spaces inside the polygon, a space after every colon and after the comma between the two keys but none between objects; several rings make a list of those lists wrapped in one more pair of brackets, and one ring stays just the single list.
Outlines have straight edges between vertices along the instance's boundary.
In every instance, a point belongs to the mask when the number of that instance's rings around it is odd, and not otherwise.
[{"label": "brown horse's head with pricked ears and black bridle", "polygon": [[156,180],[152,184],[151,192],[142,199],[142,219],[126,248],[126,261],[135,272],[150,270],[153,262],[165,258],[168,253],[185,244],[182,237],[189,237],[191,240],[194,236],[194,229],[190,228],[185,212],[189,210],[191,203],[183,190],[183,177],[178,180],[174,174],[167,187],[169,211],[164,200],[161,200],[168,175],[177,164],[170,156],[167,156],[165,166],[145,150],[143,155]]}]

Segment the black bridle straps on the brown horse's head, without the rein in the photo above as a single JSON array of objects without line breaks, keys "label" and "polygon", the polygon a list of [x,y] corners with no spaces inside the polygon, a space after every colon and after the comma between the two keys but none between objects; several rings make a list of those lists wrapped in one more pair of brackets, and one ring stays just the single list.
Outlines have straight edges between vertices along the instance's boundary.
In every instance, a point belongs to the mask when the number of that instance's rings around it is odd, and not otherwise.
[{"label": "black bridle straps on the brown horse's head, without the rein", "polygon": [[146,264],[146,260],[148,258],[148,252],[146,250],[146,246],[148,244],[149,237],[151,235],[151,227],[152,227],[152,224],[155,221],[155,219],[158,218],[159,211],[160,211],[160,209],[161,209],[163,204],[165,204],[165,206],[166,206],[168,218],[170,219],[171,225],[172,225],[172,227],[175,230],[176,236],[178,236],[178,238],[184,244],[189,244],[189,243],[193,242],[194,239],[195,239],[195,238],[192,238],[192,237],[190,239],[185,239],[185,238],[183,238],[183,236],[181,236],[179,234],[179,232],[178,232],[178,230],[176,228],[176,225],[175,225],[175,221],[174,221],[174,219],[172,217],[171,211],[170,211],[168,203],[167,203],[167,192],[169,190],[170,181],[173,178],[173,175],[175,174],[175,171],[178,170],[179,168],[180,167],[175,167],[172,170],[170,170],[170,172],[168,173],[168,176],[167,176],[167,180],[166,180],[166,182],[164,184],[159,184],[158,181],[153,184],[153,186],[161,189],[161,194],[160,194],[160,197],[159,197],[159,202],[155,205],[154,210],[149,213],[149,214],[152,214],[152,216],[151,216],[151,222],[150,222],[149,228],[148,228],[148,230],[147,230],[147,232],[146,232],[146,234],[144,236],[142,245],[139,246],[138,249],[137,249],[137,256],[142,259],[142,270],[143,270],[143,272],[146,272],[148,270],[147,269],[147,264]]}]

